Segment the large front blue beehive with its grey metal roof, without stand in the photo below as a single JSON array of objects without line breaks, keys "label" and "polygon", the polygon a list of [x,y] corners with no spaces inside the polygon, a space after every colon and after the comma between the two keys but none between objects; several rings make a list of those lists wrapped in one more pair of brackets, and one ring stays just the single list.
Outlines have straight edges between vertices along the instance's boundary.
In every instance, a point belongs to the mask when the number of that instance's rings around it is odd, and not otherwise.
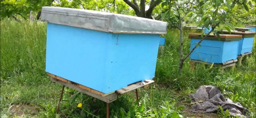
[{"label": "large front blue beehive with its grey metal roof, without stand", "polygon": [[103,93],[154,77],[166,22],[61,7],[41,13],[46,72]]}]

